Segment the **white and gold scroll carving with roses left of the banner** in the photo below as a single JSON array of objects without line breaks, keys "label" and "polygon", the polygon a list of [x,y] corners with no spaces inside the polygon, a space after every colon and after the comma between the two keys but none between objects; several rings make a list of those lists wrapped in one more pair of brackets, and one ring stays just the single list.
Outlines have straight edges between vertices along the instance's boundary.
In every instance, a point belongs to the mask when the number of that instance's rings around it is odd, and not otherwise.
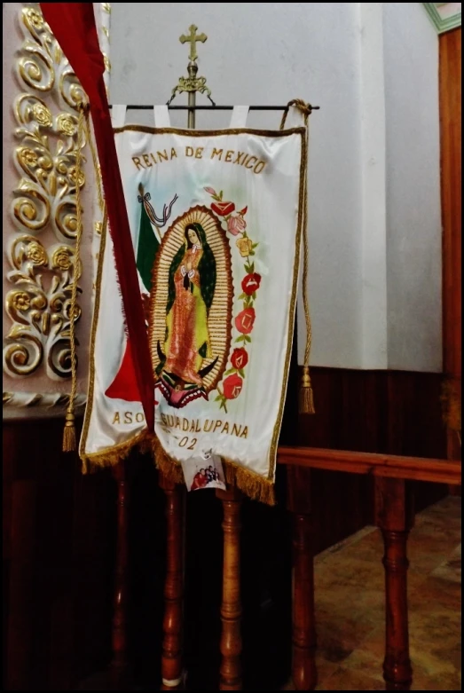
[{"label": "white and gold scroll carving with roses left of the banner", "polygon": [[[4,372],[25,377],[44,366],[61,380],[71,373],[71,293],[81,276],[74,262],[75,193],[85,177],[77,179],[75,162],[84,94],[39,4],[24,4],[19,21],[24,40],[15,61],[20,94],[13,104],[12,153],[19,178],[5,248],[11,270],[4,306],[12,326],[4,336]],[[77,305],[74,319],[80,316]]]}]

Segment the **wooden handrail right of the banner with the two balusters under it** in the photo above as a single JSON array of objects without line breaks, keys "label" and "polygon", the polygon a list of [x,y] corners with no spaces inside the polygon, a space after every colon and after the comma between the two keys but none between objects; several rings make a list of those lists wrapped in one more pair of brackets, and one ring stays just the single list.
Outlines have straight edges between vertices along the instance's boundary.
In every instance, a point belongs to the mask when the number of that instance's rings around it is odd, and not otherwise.
[{"label": "wooden handrail right of the banner with the two balusters under it", "polygon": [[387,690],[409,690],[413,671],[409,658],[407,604],[407,539],[413,526],[411,481],[459,485],[460,461],[428,460],[397,455],[347,453],[315,448],[281,447],[280,464],[288,468],[287,508],[293,516],[294,606],[293,666],[296,690],[317,685],[314,661],[316,626],[311,522],[311,469],[374,476],[375,524],[385,553],[385,658]]}]

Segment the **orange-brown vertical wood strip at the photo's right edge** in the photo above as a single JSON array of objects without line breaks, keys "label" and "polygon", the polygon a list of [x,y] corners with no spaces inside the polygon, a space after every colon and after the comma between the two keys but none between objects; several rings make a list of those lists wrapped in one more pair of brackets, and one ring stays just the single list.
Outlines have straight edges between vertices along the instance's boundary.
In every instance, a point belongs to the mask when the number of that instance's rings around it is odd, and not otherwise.
[{"label": "orange-brown vertical wood strip at the photo's right edge", "polygon": [[[440,36],[440,138],[443,218],[444,373],[460,401],[462,358],[462,33]],[[449,459],[460,457],[456,432],[448,431]]]}]

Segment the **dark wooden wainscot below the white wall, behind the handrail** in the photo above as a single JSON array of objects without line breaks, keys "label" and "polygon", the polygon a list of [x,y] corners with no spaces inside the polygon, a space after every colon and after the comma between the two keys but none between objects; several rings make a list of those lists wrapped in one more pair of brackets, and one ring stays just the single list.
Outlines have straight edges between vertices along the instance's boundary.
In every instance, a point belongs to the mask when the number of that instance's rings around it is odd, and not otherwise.
[{"label": "dark wooden wainscot below the white wall, behind the handrail", "polygon": [[[315,367],[311,379],[316,413],[298,418],[298,445],[446,456],[441,374]],[[295,445],[295,438],[288,445]],[[373,523],[371,479],[321,470],[314,470],[311,478],[316,554]],[[437,484],[414,485],[418,509],[447,492]]]}]

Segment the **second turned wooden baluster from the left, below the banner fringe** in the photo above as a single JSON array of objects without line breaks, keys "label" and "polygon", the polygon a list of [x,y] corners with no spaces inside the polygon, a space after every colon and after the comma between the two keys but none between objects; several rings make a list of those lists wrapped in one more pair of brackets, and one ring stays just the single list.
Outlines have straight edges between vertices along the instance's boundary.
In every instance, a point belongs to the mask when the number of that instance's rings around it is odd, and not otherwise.
[{"label": "second turned wooden baluster from the left, below the banner fringe", "polygon": [[181,690],[182,617],[184,596],[184,488],[160,473],[160,486],[166,495],[166,581],[161,655],[161,690]]}]

